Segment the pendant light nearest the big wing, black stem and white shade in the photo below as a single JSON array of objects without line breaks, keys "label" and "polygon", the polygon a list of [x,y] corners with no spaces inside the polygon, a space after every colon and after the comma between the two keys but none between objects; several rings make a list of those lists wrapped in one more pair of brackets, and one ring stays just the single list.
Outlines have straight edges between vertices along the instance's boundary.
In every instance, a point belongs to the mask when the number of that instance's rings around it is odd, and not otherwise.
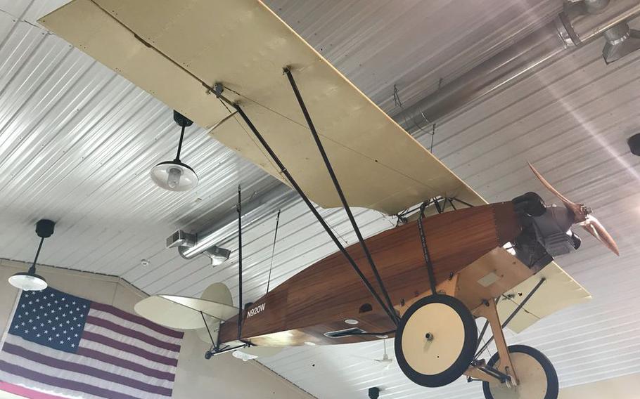
[{"label": "pendant light nearest the big wing, black stem and white shade", "polygon": [[182,140],[184,139],[184,128],[191,126],[193,122],[180,112],[173,112],[173,119],[181,127],[180,141],[178,143],[178,153],[173,161],[160,162],[151,168],[151,180],[160,188],[169,191],[188,191],[198,185],[198,175],[191,166],[180,161],[180,151],[182,150]]}]

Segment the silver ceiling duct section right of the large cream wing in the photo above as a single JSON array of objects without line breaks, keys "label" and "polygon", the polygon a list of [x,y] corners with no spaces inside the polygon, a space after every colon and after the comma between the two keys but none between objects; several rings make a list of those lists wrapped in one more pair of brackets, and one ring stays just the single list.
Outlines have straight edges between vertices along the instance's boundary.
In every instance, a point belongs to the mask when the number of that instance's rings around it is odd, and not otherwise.
[{"label": "silver ceiling duct section right of the large cream wing", "polygon": [[[620,25],[626,25],[626,21],[638,15],[638,0],[565,2],[563,11],[551,22],[418,100],[393,119],[409,133],[417,133],[463,105],[541,69],[565,50],[580,47],[602,34],[607,35],[609,30],[612,37],[619,39],[620,34],[615,32],[624,29]],[[627,43],[630,44],[629,41]],[[632,51],[631,48],[626,50],[626,53]],[[622,55],[618,51],[615,59]],[[605,61],[613,62],[606,55]]]}]

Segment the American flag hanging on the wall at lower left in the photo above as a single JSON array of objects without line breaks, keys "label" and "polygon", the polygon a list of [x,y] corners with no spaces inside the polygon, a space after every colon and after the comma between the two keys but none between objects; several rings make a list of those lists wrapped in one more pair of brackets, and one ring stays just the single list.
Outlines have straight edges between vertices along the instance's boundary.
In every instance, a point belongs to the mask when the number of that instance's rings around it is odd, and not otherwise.
[{"label": "American flag hanging on the wall at lower left", "polygon": [[35,399],[167,399],[182,336],[51,287],[23,292],[0,351],[0,389]]}]

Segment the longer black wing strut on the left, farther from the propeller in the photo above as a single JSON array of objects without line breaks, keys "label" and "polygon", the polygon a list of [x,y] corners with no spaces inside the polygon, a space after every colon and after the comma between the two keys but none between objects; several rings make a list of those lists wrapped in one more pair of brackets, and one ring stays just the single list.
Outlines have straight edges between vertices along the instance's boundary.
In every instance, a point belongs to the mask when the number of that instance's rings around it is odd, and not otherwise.
[{"label": "longer black wing strut on the left, farther from the propeller", "polygon": [[360,270],[360,268],[357,266],[357,264],[355,263],[351,255],[347,252],[345,247],[343,247],[343,244],[340,243],[340,241],[338,240],[338,237],[335,237],[335,234],[333,234],[333,231],[331,231],[331,228],[329,227],[329,225],[326,224],[326,221],[324,221],[324,218],[322,218],[322,216],[318,213],[318,211],[314,207],[314,204],[312,204],[311,200],[307,197],[307,195],[305,195],[305,192],[302,191],[302,188],[300,188],[300,185],[297,185],[293,176],[291,176],[291,174],[286,169],[284,164],[280,161],[280,158],[276,155],[274,150],[271,149],[271,147],[269,146],[269,143],[267,143],[267,141],[264,140],[264,138],[262,137],[262,134],[260,134],[260,131],[257,130],[253,122],[251,122],[251,119],[249,119],[249,117],[245,114],[242,107],[236,103],[233,103],[228,98],[222,96],[222,90],[223,90],[222,84],[215,85],[214,93],[217,96],[217,98],[219,98],[220,100],[223,100],[224,103],[230,105],[231,107],[233,107],[233,109],[238,111],[238,115],[240,115],[240,117],[243,119],[245,124],[247,124],[249,129],[252,131],[253,135],[258,139],[258,141],[260,141],[260,144],[262,145],[264,150],[267,150],[271,159],[274,160],[274,162],[280,169],[280,173],[287,178],[287,180],[289,181],[291,186],[294,188],[294,190],[298,193],[298,195],[300,195],[300,197],[305,202],[305,204],[307,204],[307,207],[309,207],[309,210],[312,212],[312,214],[316,216],[316,219],[318,219],[318,221],[320,222],[320,224],[322,225],[326,233],[329,235],[329,237],[331,237],[331,240],[333,241],[335,246],[338,247],[340,252],[342,252],[342,254],[345,256],[347,261],[350,263],[353,270],[360,277],[360,280],[362,280],[366,288],[369,289],[369,292],[371,293],[371,295],[373,295],[373,298],[376,299],[380,307],[382,307],[383,310],[385,310],[385,313],[387,313],[389,318],[392,320],[393,324],[396,325],[397,320],[396,320],[396,315],[393,312],[393,308],[388,308],[385,305],[384,301],[380,298],[380,295],[378,295],[378,292],[376,292],[376,289],[374,289],[371,283],[369,282],[369,280],[367,280],[366,276],[362,273],[362,270]]}]

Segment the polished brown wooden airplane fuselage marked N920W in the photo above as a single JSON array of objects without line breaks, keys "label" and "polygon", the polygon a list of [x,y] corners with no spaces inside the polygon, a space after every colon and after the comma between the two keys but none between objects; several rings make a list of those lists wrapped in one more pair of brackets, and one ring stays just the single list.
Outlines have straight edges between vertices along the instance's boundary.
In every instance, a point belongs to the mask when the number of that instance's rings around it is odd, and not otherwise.
[{"label": "polished brown wooden airplane fuselage marked N920W", "polygon": [[[394,306],[430,290],[417,223],[407,223],[366,240]],[[449,211],[425,218],[422,223],[437,284],[513,240],[521,231],[511,202]],[[347,251],[380,293],[360,244],[352,244]],[[347,319],[357,320],[357,326],[346,324]],[[255,301],[245,311],[242,339],[269,346],[348,344],[376,339],[324,335],[350,327],[380,333],[395,329],[345,256],[336,252]],[[231,318],[221,325],[219,341],[234,341],[237,334],[237,319]]]}]

